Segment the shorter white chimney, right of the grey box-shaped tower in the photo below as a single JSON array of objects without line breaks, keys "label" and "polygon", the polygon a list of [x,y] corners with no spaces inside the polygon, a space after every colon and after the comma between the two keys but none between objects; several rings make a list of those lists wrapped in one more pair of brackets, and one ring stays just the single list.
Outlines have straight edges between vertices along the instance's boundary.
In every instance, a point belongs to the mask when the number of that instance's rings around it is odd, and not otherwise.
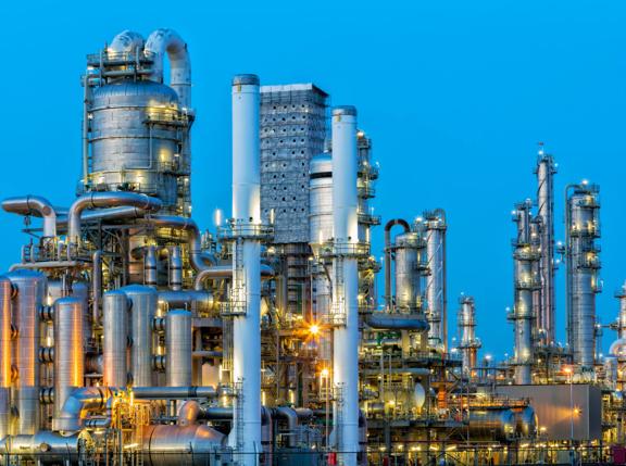
[{"label": "shorter white chimney, right of the grey box-shaped tower", "polygon": [[[359,274],[356,197],[356,109],[333,110],[333,224],[335,265],[333,376],[335,439],[343,465],[356,465],[359,451]],[[340,322],[342,320],[342,322]]]}]

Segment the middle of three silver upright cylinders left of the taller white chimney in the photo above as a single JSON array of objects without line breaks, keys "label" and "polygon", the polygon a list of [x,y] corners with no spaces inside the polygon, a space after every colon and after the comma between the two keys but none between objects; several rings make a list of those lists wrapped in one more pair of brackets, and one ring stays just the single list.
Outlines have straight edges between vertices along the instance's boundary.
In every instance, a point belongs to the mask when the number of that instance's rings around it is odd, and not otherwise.
[{"label": "middle of three silver upright cylinders left of the taller white chimney", "polygon": [[152,322],[156,315],[158,292],[132,285],[121,289],[130,301],[130,371],[135,387],[152,386]]}]

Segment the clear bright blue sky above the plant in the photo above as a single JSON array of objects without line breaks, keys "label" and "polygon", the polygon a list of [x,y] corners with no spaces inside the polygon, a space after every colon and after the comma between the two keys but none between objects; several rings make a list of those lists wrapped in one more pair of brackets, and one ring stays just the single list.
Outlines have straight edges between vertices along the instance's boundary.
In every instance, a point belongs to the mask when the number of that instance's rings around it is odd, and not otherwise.
[{"label": "clear bright blue sky above the plant", "polygon": [[[385,8],[375,7],[385,4]],[[95,4],[92,4],[95,5]],[[0,197],[67,205],[79,172],[85,55],[122,29],[172,27],[192,58],[193,216],[230,205],[229,80],[314,81],[359,108],[381,166],[376,212],[448,211],[450,335],[456,299],[476,299],[486,352],[511,352],[513,203],[535,193],[537,141],[563,189],[601,185],[603,323],[626,278],[626,3],[615,1],[4,2],[0,7]],[[0,267],[20,257],[22,221],[2,219]],[[374,247],[381,248],[383,231]],[[564,274],[559,273],[564,339]],[[381,281],[380,281],[381,286]],[[614,338],[605,331],[604,347]]]}]

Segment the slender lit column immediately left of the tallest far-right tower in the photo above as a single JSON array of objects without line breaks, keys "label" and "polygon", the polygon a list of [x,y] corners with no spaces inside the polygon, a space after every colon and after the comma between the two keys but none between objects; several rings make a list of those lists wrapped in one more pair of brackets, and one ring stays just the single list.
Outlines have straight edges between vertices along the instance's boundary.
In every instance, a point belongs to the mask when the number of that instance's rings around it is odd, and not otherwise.
[{"label": "slender lit column immediately left of the tallest far-right tower", "polygon": [[[527,200],[516,205],[513,221],[517,226],[517,237],[514,241],[514,276],[515,305],[513,315],[515,333],[515,383],[531,382],[533,364],[533,319],[535,291],[539,287],[536,264],[539,260],[537,244],[531,238],[530,209],[533,203]],[[538,240],[538,238],[536,238]]]}]

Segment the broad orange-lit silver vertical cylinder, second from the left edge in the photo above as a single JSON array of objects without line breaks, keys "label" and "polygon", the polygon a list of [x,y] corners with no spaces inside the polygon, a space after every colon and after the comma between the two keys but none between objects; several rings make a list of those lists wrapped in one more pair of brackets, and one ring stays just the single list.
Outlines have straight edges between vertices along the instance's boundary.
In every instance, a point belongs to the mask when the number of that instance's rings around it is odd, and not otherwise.
[{"label": "broad orange-lit silver vertical cylinder, second from the left edge", "polygon": [[35,270],[8,274],[16,289],[13,299],[13,324],[17,338],[13,340],[17,383],[13,400],[17,407],[17,433],[33,434],[39,428],[39,310],[46,293],[46,276]]}]

